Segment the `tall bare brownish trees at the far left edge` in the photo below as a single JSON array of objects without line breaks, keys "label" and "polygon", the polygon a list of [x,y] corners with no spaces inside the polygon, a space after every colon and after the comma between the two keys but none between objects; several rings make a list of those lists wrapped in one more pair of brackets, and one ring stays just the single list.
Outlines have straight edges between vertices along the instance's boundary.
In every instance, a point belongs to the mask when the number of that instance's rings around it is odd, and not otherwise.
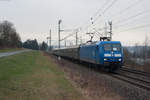
[{"label": "tall bare brownish trees at the far left edge", "polygon": [[22,47],[22,42],[13,23],[3,21],[0,22],[0,48],[6,47]]}]

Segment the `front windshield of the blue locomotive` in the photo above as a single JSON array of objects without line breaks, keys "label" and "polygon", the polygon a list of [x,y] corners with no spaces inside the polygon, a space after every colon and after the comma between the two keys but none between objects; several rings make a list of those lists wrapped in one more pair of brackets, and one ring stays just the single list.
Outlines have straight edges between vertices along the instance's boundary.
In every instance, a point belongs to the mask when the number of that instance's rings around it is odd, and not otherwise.
[{"label": "front windshield of the blue locomotive", "polygon": [[121,45],[120,44],[104,44],[105,51],[120,51]]}]

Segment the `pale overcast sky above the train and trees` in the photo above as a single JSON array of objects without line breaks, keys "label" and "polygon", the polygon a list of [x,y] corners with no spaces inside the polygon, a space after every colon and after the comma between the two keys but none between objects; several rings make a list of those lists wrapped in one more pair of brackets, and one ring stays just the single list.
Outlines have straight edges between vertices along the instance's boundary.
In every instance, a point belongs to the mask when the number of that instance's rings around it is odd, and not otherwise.
[{"label": "pale overcast sky above the train and trees", "polygon": [[[149,0],[0,0],[0,21],[12,22],[22,41],[46,42],[51,29],[53,45],[58,43],[59,19],[64,30],[61,39],[78,30],[78,42],[89,40],[86,33],[95,30],[94,40],[98,40],[105,23],[108,27],[112,21],[113,40],[134,45],[150,39],[149,5]],[[75,35],[66,41],[74,44]]]}]

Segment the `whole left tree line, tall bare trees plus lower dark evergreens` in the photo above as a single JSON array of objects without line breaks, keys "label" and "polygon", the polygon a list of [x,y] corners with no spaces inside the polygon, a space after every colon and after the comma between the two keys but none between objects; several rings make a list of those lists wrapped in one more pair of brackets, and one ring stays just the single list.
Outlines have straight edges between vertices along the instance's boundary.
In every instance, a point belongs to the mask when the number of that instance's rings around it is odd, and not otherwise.
[{"label": "whole left tree line, tall bare trees plus lower dark evergreens", "polygon": [[37,40],[21,41],[14,24],[9,21],[0,22],[0,48],[28,48],[33,50],[46,50],[48,45],[43,41],[38,44]]}]

